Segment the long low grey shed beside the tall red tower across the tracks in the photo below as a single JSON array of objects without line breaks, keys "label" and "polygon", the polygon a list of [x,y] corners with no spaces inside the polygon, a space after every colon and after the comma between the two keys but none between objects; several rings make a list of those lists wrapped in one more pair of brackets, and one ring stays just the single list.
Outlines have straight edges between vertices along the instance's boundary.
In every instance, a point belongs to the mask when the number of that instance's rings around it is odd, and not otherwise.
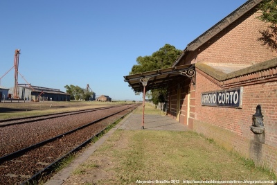
[{"label": "long low grey shed beside the tall red tower across the tracks", "polygon": [[[10,94],[12,94],[13,89],[14,87],[10,88]],[[28,84],[18,85],[18,97],[22,100],[31,101],[70,101],[70,94],[60,91],[60,89],[30,86]]]}]

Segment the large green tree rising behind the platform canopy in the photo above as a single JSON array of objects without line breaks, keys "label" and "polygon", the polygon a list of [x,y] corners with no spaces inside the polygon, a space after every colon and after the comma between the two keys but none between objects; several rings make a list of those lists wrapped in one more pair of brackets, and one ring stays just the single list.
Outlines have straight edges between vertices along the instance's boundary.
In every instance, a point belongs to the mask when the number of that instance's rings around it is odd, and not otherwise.
[{"label": "large green tree rising behind the platform canopy", "polygon": [[[132,71],[129,72],[130,75],[136,73],[143,73],[146,71],[154,71],[157,69],[165,69],[172,67],[172,64],[177,60],[179,55],[181,55],[181,50],[176,49],[175,46],[170,44],[165,44],[159,51],[155,51],[152,55],[139,56],[136,58],[137,64],[132,67]],[[154,104],[159,102],[165,102],[167,98],[166,89],[153,89],[148,97],[152,96]]]}]

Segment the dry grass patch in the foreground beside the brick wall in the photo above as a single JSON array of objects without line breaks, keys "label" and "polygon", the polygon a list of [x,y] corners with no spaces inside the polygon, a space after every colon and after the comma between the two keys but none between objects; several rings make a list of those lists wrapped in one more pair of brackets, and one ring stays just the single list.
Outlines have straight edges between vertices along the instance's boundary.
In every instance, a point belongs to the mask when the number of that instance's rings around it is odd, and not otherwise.
[{"label": "dry grass patch in the foreground beside the brick wall", "polygon": [[[102,168],[100,161],[105,161],[104,158],[114,165]],[[136,184],[137,180],[170,179],[180,182],[186,179],[276,179],[264,170],[249,168],[242,159],[195,132],[116,130],[90,160],[89,164],[98,164],[104,171],[102,173],[114,174],[98,182],[92,178],[86,180],[96,184]],[[97,173],[97,170],[93,172]]]}]

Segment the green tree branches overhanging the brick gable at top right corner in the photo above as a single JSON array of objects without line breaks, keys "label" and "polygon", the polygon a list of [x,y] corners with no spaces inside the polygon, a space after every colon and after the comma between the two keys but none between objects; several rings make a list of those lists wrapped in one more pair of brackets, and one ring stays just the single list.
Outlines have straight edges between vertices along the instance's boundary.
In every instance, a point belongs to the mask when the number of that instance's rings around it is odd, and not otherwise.
[{"label": "green tree branches overhanging the brick gable at top right corner", "polygon": [[267,29],[259,30],[261,37],[258,40],[270,49],[277,50],[277,0],[263,0],[258,8],[262,10],[258,19],[269,23]]}]

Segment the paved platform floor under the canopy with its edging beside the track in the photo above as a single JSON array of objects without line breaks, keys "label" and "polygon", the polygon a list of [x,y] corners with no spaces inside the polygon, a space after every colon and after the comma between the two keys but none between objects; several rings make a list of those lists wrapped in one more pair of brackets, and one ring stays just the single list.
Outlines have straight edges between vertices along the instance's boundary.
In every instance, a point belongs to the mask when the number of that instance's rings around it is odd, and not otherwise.
[{"label": "paved platform floor under the canopy with its edging beside the track", "polygon": [[[46,182],[45,185],[62,185],[66,183],[76,168],[84,163],[117,129],[120,130],[141,130],[142,114],[129,114],[116,127],[112,128],[96,143],[89,146],[80,156],[78,156],[69,166],[60,170],[56,175]],[[144,130],[171,130],[171,131],[186,131],[189,130],[186,125],[182,125],[178,121],[169,116],[159,114],[145,114]]]}]

